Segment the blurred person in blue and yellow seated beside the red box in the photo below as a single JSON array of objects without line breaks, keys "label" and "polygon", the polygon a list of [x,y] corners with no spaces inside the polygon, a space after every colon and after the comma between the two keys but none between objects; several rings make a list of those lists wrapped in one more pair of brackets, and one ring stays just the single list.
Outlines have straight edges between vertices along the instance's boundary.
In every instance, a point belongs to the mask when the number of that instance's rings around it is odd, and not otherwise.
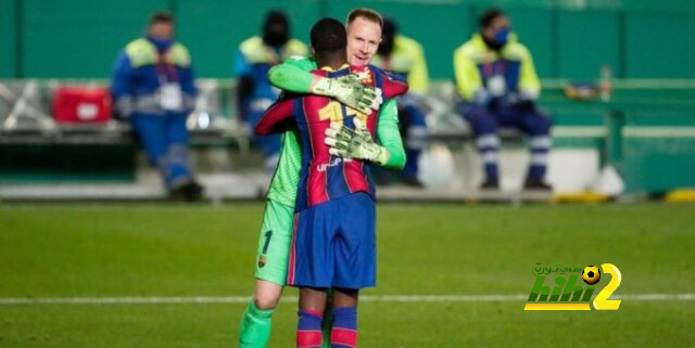
[{"label": "blurred person in blue and yellow seated beside the red box", "polygon": [[118,54],[111,93],[116,116],[132,125],[169,196],[197,201],[203,188],[189,164],[186,129],[197,90],[190,54],[174,39],[174,25],[168,13],[152,15],[144,37]]}]

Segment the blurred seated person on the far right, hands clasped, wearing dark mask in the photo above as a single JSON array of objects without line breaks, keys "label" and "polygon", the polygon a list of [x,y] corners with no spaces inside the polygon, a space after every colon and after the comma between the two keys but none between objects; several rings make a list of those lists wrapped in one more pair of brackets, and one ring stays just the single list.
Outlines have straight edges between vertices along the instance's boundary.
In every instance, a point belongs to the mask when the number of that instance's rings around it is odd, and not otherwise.
[{"label": "blurred seated person on the far right, hands clasped, wearing dark mask", "polygon": [[484,164],[483,190],[500,188],[497,159],[500,127],[522,130],[530,137],[531,163],[527,190],[552,190],[545,183],[551,149],[551,120],[536,107],[541,91],[529,50],[517,41],[500,9],[480,16],[480,33],[454,51],[457,112],[471,125]]}]

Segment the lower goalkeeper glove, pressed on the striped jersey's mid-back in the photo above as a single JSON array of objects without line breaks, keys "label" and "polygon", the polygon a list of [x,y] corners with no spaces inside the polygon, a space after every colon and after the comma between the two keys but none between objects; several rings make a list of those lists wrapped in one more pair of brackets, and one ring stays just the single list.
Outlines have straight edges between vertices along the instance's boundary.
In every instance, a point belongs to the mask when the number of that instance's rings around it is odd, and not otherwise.
[{"label": "lower goalkeeper glove, pressed on the striped jersey's mid-back", "polygon": [[354,117],[355,129],[352,130],[340,124],[331,124],[326,129],[324,142],[330,146],[331,155],[344,158],[356,158],[386,165],[389,160],[389,151],[374,142],[371,133],[359,118]]}]

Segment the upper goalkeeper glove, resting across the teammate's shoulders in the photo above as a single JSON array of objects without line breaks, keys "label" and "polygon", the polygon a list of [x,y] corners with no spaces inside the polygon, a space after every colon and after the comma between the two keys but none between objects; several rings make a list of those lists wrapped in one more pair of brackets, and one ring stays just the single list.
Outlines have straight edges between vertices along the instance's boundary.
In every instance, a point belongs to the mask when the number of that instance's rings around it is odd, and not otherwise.
[{"label": "upper goalkeeper glove, resting across the teammate's shoulders", "polygon": [[339,102],[367,115],[371,114],[371,109],[378,109],[383,102],[381,90],[362,83],[356,74],[320,78],[312,87],[312,93],[336,98]]}]

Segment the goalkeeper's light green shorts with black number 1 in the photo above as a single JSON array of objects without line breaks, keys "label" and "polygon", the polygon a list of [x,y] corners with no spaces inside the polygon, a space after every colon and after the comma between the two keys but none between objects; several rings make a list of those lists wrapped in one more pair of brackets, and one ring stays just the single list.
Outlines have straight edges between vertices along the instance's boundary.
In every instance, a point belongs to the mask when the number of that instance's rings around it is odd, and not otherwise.
[{"label": "goalkeeper's light green shorts with black number 1", "polygon": [[266,202],[256,253],[256,279],[285,286],[293,220],[294,207]]}]

